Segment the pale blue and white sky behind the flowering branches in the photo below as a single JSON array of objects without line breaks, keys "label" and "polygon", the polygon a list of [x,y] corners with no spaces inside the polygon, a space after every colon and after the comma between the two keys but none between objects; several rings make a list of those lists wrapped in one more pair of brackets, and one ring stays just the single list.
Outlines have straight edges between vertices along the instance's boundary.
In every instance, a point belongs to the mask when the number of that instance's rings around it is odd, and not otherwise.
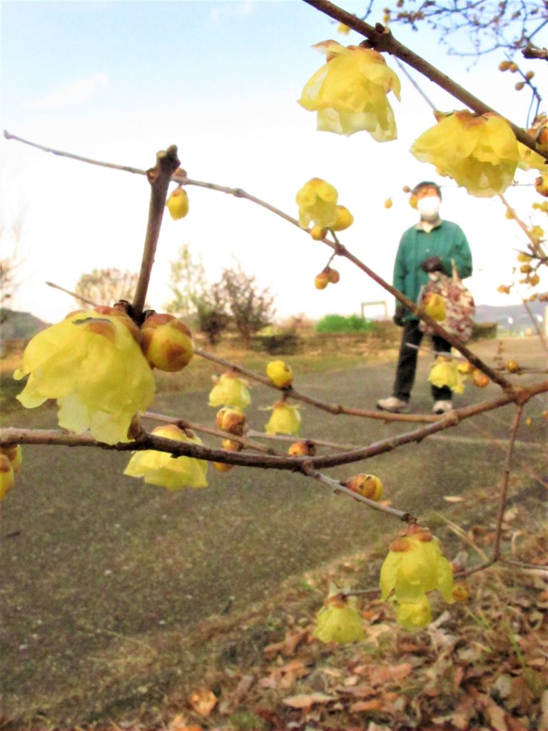
[{"label": "pale blue and white sky behind the flowering branches", "polygon": [[[359,13],[363,4],[344,7]],[[373,20],[381,20],[383,4],[377,7]],[[500,58],[484,58],[468,72],[428,31],[396,28],[395,35],[525,123],[528,100],[513,91],[515,77],[497,71]],[[416,216],[401,186],[435,178],[408,154],[433,118],[400,75],[401,105],[392,99],[399,140],[378,144],[365,132],[350,138],[316,132],[314,115],[296,99],[323,62],[311,45],[330,37],[359,42],[357,34],[338,35],[329,18],[299,0],[4,1],[1,124],[38,143],[137,167],[149,167],[157,149],[176,143],[191,178],[243,187],[293,215],[302,184],[325,178],[356,219],[343,243],[391,279],[397,242]],[[462,107],[430,82],[422,85],[439,108]],[[138,268],[148,208],[144,179],[5,140],[0,158],[3,215],[23,213],[25,221],[20,308],[62,317],[72,302],[45,280],[70,288],[92,268]],[[386,211],[383,202],[392,195],[395,205]],[[528,189],[509,192],[526,215],[527,196]],[[321,244],[249,202],[202,189],[189,189],[189,197],[189,216],[164,224],[151,282],[156,308],[169,299],[169,261],[181,243],[202,257],[211,281],[236,257],[275,292],[281,317],[350,314],[364,300],[385,298],[346,262],[341,283],[317,291],[313,279],[329,254]],[[442,213],[460,222],[471,242],[476,300],[509,302],[495,289],[509,280],[521,239],[500,202],[448,187]]]}]

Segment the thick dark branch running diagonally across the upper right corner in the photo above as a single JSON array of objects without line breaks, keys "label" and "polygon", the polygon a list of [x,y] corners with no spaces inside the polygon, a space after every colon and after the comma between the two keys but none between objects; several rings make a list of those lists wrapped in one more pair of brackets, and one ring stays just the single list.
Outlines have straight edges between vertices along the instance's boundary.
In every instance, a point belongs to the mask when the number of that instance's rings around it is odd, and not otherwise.
[{"label": "thick dark branch running diagonally across the upper right corner", "polygon": [[[392,31],[390,31],[386,26],[383,26],[381,23],[377,23],[375,27],[370,26],[369,23],[365,23],[364,20],[360,20],[355,15],[346,12],[346,10],[332,4],[328,0],[304,0],[304,2],[315,7],[316,10],[323,12],[325,15],[329,15],[330,18],[338,20],[340,23],[344,23],[346,26],[349,26],[349,28],[357,31],[357,33],[362,34],[362,36],[365,36],[376,50],[391,53],[392,56],[396,56],[402,61],[405,61],[408,66],[411,66],[416,69],[416,71],[438,84],[438,86],[445,89],[445,91],[448,91],[455,99],[463,102],[463,104],[470,107],[470,109],[477,114],[492,112],[503,119],[506,119],[504,115],[496,112],[492,109],[492,107],[489,107],[487,104],[482,102],[481,99],[478,99],[477,96],[473,96],[473,94],[454,82],[451,78],[449,78],[449,76],[443,74],[441,71],[436,69],[435,66],[425,61],[424,58],[418,56],[411,49],[406,48],[406,46],[392,36]],[[517,140],[520,140],[521,143],[531,150],[539,152],[536,148],[536,142],[533,140],[533,137],[528,135],[527,132],[524,132],[523,129],[511,122],[509,119],[506,119],[506,121],[511,126]]]}]

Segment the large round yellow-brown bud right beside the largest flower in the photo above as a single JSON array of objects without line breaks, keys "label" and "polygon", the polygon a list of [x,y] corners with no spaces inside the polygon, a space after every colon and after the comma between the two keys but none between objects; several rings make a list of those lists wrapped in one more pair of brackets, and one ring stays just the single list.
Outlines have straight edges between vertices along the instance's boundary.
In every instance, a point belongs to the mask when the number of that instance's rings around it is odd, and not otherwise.
[{"label": "large round yellow-brown bud right beside the largest flower", "polygon": [[194,356],[192,333],[180,319],[169,314],[153,314],[141,327],[142,352],[153,368],[174,373],[182,371]]}]

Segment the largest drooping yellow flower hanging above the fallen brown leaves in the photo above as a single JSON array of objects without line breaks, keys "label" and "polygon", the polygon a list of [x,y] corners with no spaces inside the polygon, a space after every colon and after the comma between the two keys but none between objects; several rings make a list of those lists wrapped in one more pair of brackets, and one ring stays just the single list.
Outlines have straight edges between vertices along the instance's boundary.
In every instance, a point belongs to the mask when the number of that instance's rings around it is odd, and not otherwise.
[{"label": "largest drooping yellow flower hanging above the fallen brown leaves", "polygon": [[412,528],[411,533],[390,544],[381,567],[381,599],[385,601],[394,592],[400,604],[419,602],[427,591],[438,589],[451,604],[454,601],[451,564],[430,531],[420,526]]}]

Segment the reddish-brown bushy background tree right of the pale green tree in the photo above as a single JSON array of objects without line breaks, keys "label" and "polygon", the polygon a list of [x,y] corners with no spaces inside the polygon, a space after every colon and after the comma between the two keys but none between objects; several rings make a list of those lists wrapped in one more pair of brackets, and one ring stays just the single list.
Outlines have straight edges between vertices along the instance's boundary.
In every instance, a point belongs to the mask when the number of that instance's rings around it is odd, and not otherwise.
[{"label": "reddish-brown bushy background tree right of the pale green tree", "polygon": [[254,333],[273,321],[273,295],[269,289],[259,290],[256,278],[240,264],[235,269],[225,269],[220,284],[235,327],[248,344]]}]

